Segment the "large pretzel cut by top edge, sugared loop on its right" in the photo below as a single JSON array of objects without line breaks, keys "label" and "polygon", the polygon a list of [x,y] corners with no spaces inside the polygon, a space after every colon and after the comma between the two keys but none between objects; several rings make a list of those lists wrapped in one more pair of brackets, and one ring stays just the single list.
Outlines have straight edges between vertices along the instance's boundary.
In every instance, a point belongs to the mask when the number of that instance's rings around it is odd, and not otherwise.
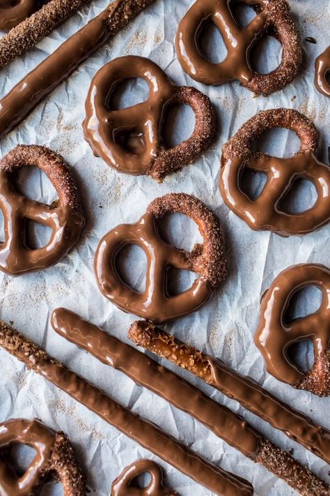
[{"label": "large pretzel cut by top edge, sugared loop on its right", "polygon": [[[240,27],[231,8],[237,3],[253,6],[256,17]],[[228,54],[220,63],[212,63],[202,54],[198,37],[205,22],[212,20],[219,29]],[[249,53],[267,33],[282,45],[282,60],[269,74],[251,68]],[[197,0],[184,15],[176,36],[176,50],[181,66],[194,80],[204,84],[223,84],[239,80],[242,86],[269,95],[294,80],[302,61],[299,31],[290,16],[286,0]]]}]

